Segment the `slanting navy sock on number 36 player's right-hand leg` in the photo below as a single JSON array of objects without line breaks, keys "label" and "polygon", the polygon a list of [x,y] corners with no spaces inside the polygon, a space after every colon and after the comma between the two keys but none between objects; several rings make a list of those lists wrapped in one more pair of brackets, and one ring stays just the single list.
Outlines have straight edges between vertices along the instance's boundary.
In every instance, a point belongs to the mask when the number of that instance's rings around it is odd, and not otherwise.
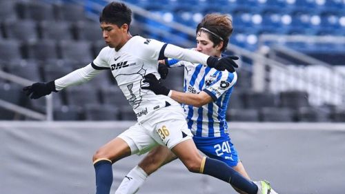
[{"label": "slanting navy sock on number 36 player's right-hand leg", "polygon": [[247,180],[226,163],[209,157],[204,157],[202,161],[200,173],[228,182],[231,186],[248,194],[257,194],[257,185],[250,180]]}]

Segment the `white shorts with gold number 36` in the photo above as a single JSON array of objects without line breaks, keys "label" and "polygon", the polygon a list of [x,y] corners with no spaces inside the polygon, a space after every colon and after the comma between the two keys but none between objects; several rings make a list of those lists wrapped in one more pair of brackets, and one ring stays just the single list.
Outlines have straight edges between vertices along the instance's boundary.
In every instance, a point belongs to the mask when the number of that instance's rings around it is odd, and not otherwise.
[{"label": "white shorts with gold number 36", "polygon": [[131,126],[118,137],[130,146],[132,154],[144,154],[157,145],[169,149],[193,135],[181,106],[167,106],[150,114],[149,119]]}]

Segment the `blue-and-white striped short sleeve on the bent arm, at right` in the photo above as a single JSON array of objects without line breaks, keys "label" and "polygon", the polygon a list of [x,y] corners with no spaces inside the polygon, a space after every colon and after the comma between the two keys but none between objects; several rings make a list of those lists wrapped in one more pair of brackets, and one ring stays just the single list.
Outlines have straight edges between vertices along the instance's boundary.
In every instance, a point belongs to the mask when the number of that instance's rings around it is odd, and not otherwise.
[{"label": "blue-and-white striped short sleeve on the bent arm, at right", "polygon": [[216,101],[221,95],[226,93],[231,87],[235,85],[237,81],[237,73],[230,73],[228,71],[219,72],[215,81],[203,91],[208,93],[212,97],[213,101]]}]

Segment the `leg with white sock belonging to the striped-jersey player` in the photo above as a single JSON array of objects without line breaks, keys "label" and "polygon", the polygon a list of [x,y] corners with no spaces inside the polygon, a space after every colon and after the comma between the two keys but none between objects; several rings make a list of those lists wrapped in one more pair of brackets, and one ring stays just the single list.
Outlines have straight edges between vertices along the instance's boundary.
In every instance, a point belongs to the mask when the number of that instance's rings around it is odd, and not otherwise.
[{"label": "leg with white sock belonging to the striped-jersey player", "polygon": [[115,194],[136,193],[141,185],[144,184],[148,175],[176,158],[177,157],[166,146],[157,146],[153,148],[152,151],[139,162],[138,166],[132,168],[124,177],[124,180],[122,180]]}]

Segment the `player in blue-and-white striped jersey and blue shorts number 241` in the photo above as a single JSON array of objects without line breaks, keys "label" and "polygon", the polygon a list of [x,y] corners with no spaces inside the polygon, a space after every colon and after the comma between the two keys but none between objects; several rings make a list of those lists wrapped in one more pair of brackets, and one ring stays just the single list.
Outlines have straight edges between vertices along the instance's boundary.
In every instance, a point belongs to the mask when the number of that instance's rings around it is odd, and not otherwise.
[{"label": "player in blue-and-white striped jersey and blue shorts number 241", "polygon": [[[206,55],[221,57],[231,33],[233,24],[224,14],[207,14],[197,26],[197,48]],[[234,57],[235,59],[235,57]],[[146,76],[144,86],[157,95],[168,95],[184,107],[188,128],[193,133],[193,140],[199,149],[208,157],[219,159],[234,168],[244,177],[250,179],[237,151],[230,141],[226,123],[226,109],[233,87],[237,81],[236,72],[219,71],[202,64],[193,64],[176,59],[165,60],[172,67],[184,67],[184,93],[169,90],[162,86],[154,76]],[[139,190],[144,181],[159,167],[177,157],[164,146],[159,146],[135,166],[121,182],[115,194],[132,194]],[[275,193],[268,182],[255,182],[262,193]],[[239,191],[234,187],[236,191]]]}]

